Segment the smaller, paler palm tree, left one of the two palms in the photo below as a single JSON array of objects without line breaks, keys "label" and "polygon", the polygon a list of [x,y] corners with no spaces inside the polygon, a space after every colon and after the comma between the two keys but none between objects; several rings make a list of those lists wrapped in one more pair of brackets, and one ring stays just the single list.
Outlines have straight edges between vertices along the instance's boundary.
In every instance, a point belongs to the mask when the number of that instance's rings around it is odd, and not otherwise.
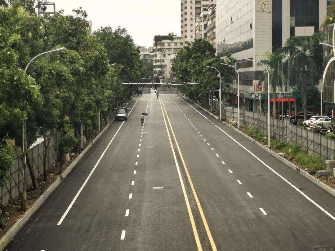
[{"label": "smaller, paler palm tree, left one of the two palms", "polygon": [[[266,52],[265,53],[266,59],[260,60],[261,63],[266,65],[269,70],[270,74],[270,88],[272,91],[272,99],[273,99],[273,117],[276,117],[276,89],[280,82],[278,83],[278,73],[279,77],[283,78],[283,81],[285,81],[285,76],[279,70],[278,72],[278,62],[281,62],[283,58],[285,58],[285,54],[275,54],[275,53],[270,53]],[[259,66],[261,64],[258,64]],[[280,80],[279,80],[280,81]],[[264,86],[264,89],[267,90],[267,83],[268,83],[268,74],[267,72],[264,72],[260,77],[259,77],[259,83],[262,83]]]}]

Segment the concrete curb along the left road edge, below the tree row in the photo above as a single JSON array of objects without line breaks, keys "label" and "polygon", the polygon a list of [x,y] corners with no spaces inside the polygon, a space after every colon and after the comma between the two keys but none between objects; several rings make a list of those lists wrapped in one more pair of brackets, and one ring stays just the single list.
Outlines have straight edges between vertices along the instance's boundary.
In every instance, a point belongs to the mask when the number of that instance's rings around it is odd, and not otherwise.
[{"label": "concrete curb along the left road edge, below the tree row", "polygon": [[[135,95],[131,100],[133,100]],[[130,100],[130,101],[131,101]],[[130,103],[130,101],[126,104]],[[29,218],[40,208],[43,202],[50,196],[50,194],[58,187],[62,180],[71,172],[76,164],[84,157],[87,151],[95,144],[95,142],[105,133],[105,131],[114,122],[114,118],[108,123],[108,125],[95,137],[95,139],[87,145],[87,147],[75,158],[75,160],[62,172],[62,174],[48,187],[48,189],[42,193],[42,195],[31,205],[28,211],[26,211],[15,224],[7,231],[7,233],[0,239],[0,250],[4,250],[6,246],[11,242],[14,236],[21,230],[24,224]]]}]

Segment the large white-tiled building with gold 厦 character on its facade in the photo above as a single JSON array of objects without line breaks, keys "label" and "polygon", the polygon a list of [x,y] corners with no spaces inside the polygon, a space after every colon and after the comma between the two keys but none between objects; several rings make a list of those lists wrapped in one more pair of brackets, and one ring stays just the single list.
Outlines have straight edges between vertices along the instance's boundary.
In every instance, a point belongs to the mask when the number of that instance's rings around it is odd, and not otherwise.
[{"label": "large white-tiled building with gold \u53a6 character on its facade", "polygon": [[[246,109],[259,109],[258,79],[264,68],[244,59],[264,59],[266,52],[281,48],[291,35],[312,35],[319,30],[326,5],[325,0],[217,0],[217,54],[223,56],[229,51],[238,60],[241,98]],[[232,103],[237,99],[236,88],[237,81],[229,90],[235,95],[227,96]],[[276,95],[274,98],[280,99],[281,95]],[[265,107],[265,93],[261,98]]]}]

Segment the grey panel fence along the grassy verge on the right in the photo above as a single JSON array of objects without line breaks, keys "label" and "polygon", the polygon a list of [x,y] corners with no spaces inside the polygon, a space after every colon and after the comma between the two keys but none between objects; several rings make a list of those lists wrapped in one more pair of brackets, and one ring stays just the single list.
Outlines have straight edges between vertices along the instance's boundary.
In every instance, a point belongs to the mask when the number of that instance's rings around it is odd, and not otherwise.
[{"label": "grey panel fence along the grassy verge on the right", "polygon": [[[267,115],[252,111],[244,111],[244,115],[246,127],[256,127],[260,132],[267,135]],[[315,155],[322,159],[335,159],[335,140],[333,139],[294,126],[288,119],[270,118],[270,128],[271,136],[278,141],[299,145],[309,155]]]}]

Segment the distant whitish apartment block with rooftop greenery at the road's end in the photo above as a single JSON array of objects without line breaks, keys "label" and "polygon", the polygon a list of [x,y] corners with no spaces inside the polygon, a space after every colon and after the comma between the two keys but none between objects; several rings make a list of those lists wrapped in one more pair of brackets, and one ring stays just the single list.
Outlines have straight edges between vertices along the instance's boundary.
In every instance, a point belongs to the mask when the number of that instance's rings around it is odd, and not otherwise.
[{"label": "distant whitish apartment block with rooftop greenery at the road's end", "polygon": [[[183,40],[180,36],[155,36],[151,53],[153,63],[153,74],[155,77],[171,77],[171,67],[177,52],[183,47]],[[157,74],[159,73],[159,74]]]}]

